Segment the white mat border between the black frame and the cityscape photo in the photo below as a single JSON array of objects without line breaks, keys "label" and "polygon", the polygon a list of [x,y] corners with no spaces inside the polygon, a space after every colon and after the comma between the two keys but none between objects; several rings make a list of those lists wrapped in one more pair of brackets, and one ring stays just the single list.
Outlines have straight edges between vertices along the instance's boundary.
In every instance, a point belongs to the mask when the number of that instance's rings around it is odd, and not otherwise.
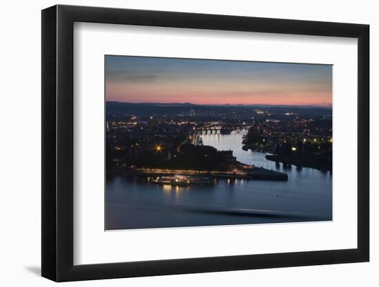
[{"label": "white mat border between the black frame and the cityscape photo", "polygon": [[[104,232],[104,54],[333,64],[333,221]],[[356,39],[75,24],[74,264],[356,248],[357,54]]]}]

